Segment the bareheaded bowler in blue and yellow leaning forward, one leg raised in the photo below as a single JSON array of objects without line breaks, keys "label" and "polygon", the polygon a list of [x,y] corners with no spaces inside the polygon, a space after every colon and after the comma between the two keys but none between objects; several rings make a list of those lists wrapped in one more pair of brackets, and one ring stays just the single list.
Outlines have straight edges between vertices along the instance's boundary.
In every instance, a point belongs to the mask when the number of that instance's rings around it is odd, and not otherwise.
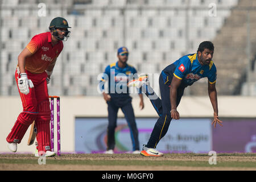
[{"label": "bareheaded bowler in blue and yellow leaning forward, one leg raised", "polygon": [[155,92],[149,86],[147,78],[139,78],[129,82],[128,86],[137,86],[143,93],[150,98],[152,105],[159,115],[154,129],[147,144],[143,145],[141,155],[143,156],[163,156],[162,152],[157,151],[156,145],[160,139],[166,135],[171,119],[179,119],[180,115],[177,106],[183,96],[184,89],[192,85],[200,78],[208,78],[208,94],[213,107],[213,122],[223,126],[218,119],[217,91],[216,91],[216,67],[212,61],[214,46],[212,42],[202,42],[197,53],[192,53],[181,57],[173,64],[163,69],[159,76],[159,87],[161,99],[154,99]]}]

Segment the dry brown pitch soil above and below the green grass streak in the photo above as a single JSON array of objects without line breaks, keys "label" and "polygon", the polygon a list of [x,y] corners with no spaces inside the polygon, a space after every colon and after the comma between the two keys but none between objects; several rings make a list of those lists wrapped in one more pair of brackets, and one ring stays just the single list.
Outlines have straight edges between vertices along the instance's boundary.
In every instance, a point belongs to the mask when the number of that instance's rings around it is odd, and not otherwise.
[{"label": "dry brown pitch soil above and below the green grass streak", "polygon": [[[49,159],[52,160],[154,160],[154,161],[201,161],[201,162],[208,162],[209,160],[208,155],[187,155],[187,154],[167,154],[163,157],[143,157],[139,154],[65,154],[61,156],[55,156]],[[86,164],[46,164],[46,165],[39,165],[39,164],[10,164],[4,163],[5,159],[28,159],[28,160],[38,160],[38,158],[34,157],[33,155],[0,155],[0,159],[3,161],[0,163],[0,170],[10,170],[10,171],[35,171],[35,170],[46,170],[46,171],[194,171],[194,170],[201,170],[201,171],[208,171],[208,170],[253,170],[256,171],[255,167],[186,167],[186,166],[107,166],[107,165],[86,165]],[[256,155],[220,155],[217,156],[217,162],[255,162],[256,163]]]}]

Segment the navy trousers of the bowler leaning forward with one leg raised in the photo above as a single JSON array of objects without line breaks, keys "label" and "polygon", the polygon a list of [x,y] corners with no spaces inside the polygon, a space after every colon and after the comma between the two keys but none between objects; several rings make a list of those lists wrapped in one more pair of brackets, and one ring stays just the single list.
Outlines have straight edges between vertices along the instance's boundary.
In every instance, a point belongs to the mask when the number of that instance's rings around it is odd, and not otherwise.
[{"label": "navy trousers of the bowler leaning forward with one leg raised", "polygon": [[[175,68],[174,68],[175,69]],[[161,138],[166,135],[168,131],[168,127],[171,123],[171,101],[170,101],[170,85],[172,81],[173,74],[166,74],[162,72],[159,76],[159,88],[160,95],[159,97],[154,98],[152,96],[156,96],[154,90],[144,84],[142,85],[142,92],[146,94],[146,96],[150,99],[151,104],[154,106],[156,112],[159,115],[158,121],[156,121],[154,129],[150,135],[150,139],[148,140],[147,147],[156,148],[156,145],[160,141]],[[145,92],[146,91],[146,92]],[[179,87],[177,90],[177,106],[180,103],[181,97],[183,96],[184,88]]]}]

